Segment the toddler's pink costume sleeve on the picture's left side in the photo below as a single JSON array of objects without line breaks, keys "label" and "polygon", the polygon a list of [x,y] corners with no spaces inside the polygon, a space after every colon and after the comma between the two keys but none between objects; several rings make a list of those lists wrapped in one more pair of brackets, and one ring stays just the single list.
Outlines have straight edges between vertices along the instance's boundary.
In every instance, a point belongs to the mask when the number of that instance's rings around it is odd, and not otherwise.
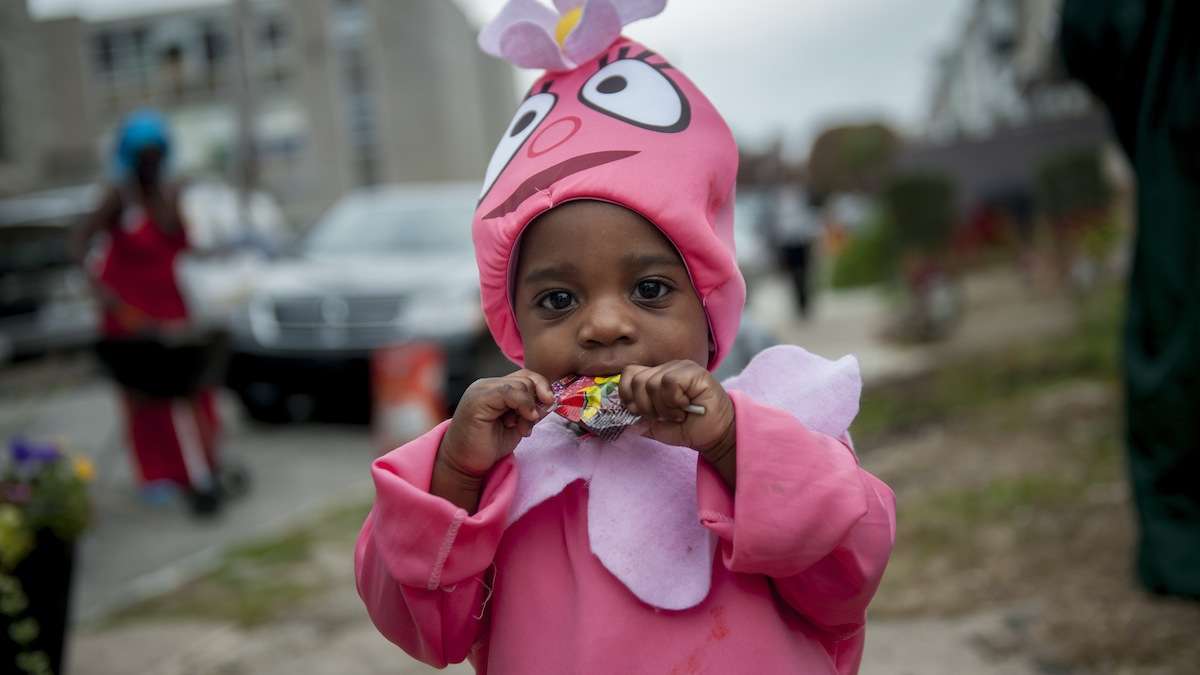
[{"label": "toddler's pink costume sleeve on the picture's left side", "polygon": [[428,492],[443,423],[374,461],[376,503],[354,550],[359,596],[376,627],[437,668],[479,639],[490,568],[516,489],[511,458],[492,470],[479,510]]}]

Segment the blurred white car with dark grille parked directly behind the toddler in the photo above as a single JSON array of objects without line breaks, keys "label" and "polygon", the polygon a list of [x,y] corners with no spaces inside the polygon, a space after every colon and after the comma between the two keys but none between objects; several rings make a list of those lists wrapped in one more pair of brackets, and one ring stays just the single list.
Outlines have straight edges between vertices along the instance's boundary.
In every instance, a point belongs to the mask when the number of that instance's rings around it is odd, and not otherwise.
[{"label": "blurred white car with dark grille parked directly behind the toddler", "polygon": [[510,369],[479,306],[478,197],[475,184],[354,191],[259,270],[233,322],[227,378],[250,416],[368,419],[372,352],[410,341],[444,351],[451,406],[475,378]]}]

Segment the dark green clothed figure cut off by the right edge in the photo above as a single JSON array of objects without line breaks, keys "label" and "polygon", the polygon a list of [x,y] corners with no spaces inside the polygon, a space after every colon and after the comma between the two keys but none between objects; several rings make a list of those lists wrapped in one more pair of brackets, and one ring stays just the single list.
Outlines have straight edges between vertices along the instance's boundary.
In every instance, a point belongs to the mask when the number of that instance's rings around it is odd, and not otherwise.
[{"label": "dark green clothed figure cut off by the right edge", "polygon": [[1108,107],[1138,177],[1124,331],[1138,575],[1200,599],[1200,5],[1067,0],[1072,74]]}]

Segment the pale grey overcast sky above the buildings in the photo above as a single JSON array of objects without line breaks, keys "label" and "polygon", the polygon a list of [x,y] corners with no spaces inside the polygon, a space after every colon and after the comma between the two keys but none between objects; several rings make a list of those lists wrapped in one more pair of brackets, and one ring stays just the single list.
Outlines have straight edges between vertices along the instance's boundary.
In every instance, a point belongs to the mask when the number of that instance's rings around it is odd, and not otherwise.
[{"label": "pale grey overcast sky above the buildings", "polygon": [[[106,17],[226,0],[30,0],[41,16]],[[476,23],[503,0],[455,0]],[[550,4],[550,0],[545,0]],[[916,129],[932,65],[970,0],[673,0],[626,34],[713,100],[743,143],[775,136],[806,151],[830,123],[883,118]],[[523,73],[522,82],[536,73]]]}]

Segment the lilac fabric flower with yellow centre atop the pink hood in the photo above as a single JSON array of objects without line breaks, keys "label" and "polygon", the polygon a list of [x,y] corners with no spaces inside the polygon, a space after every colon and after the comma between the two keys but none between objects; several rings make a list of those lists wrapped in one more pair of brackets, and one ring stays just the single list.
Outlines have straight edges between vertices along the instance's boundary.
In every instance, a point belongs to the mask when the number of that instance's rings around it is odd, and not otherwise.
[{"label": "lilac fabric flower with yellow centre atop the pink hood", "polygon": [[569,71],[604,52],[620,29],[662,11],[666,0],[509,0],[479,34],[479,47],[523,68]]}]

